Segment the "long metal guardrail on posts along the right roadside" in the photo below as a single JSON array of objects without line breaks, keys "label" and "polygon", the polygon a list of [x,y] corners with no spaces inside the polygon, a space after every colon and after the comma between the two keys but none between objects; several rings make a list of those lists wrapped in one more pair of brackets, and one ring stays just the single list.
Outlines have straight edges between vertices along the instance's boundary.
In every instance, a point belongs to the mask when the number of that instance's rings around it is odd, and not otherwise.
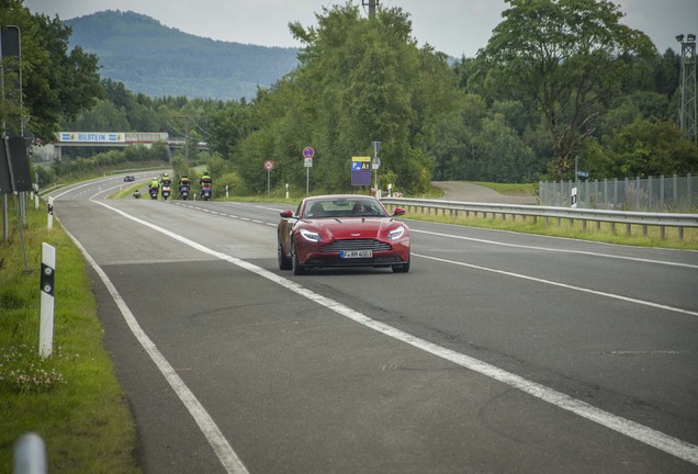
[{"label": "long metal guardrail on posts along the right roadside", "polygon": [[562,219],[567,219],[571,223],[574,221],[582,221],[583,229],[587,228],[587,223],[596,223],[596,228],[600,229],[601,223],[609,223],[611,230],[616,232],[616,225],[626,225],[626,232],[630,235],[632,226],[642,226],[643,236],[648,235],[649,226],[656,226],[660,228],[661,238],[666,238],[666,228],[676,227],[678,229],[679,240],[684,239],[685,228],[698,228],[698,214],[673,214],[673,213],[641,213],[641,212],[622,212],[622,211],[606,211],[606,210],[590,210],[590,208],[573,208],[573,207],[551,207],[551,206],[537,206],[537,205],[517,205],[517,204],[486,204],[486,203],[473,203],[473,202],[458,202],[458,201],[440,201],[440,200],[420,200],[409,198],[383,198],[381,202],[386,206],[403,207],[407,212],[420,211],[423,214],[438,215],[441,211],[442,215],[449,215],[457,218],[459,213],[465,213],[465,217],[473,213],[475,217],[480,214],[483,217],[491,215],[496,217],[500,215],[503,219],[507,216],[516,218],[520,216],[524,221],[527,217],[532,217],[533,223],[538,222],[538,218],[543,218],[545,225],[550,224],[550,219],[556,219],[558,225],[561,225]]}]

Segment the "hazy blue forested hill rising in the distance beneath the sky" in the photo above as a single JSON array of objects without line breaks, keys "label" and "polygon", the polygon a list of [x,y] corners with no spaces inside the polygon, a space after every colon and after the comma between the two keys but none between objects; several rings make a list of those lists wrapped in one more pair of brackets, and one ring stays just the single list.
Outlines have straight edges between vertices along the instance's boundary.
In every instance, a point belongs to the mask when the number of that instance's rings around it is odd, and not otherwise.
[{"label": "hazy blue forested hill rising in the distance beneath the sky", "polygon": [[213,41],[132,11],[64,21],[70,47],[99,56],[100,75],[149,97],[252,99],[297,65],[297,49]]}]

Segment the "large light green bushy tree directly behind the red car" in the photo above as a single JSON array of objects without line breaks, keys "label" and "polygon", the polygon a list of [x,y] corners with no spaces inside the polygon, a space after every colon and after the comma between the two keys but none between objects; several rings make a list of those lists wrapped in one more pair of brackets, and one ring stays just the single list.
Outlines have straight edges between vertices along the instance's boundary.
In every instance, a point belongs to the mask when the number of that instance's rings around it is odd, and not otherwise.
[{"label": "large light green bushy tree directly behind the red car", "polygon": [[[335,5],[317,23],[290,25],[304,44],[300,66],[254,101],[236,169],[262,191],[262,162],[272,159],[275,179],[305,189],[301,150],[311,145],[314,191],[349,191],[351,157],[372,155],[371,142],[381,142],[380,174],[394,177],[403,192],[426,191],[438,124],[459,102],[446,56],[416,46],[398,8],[367,19],[357,5]],[[235,143],[222,135],[217,143]]]}]

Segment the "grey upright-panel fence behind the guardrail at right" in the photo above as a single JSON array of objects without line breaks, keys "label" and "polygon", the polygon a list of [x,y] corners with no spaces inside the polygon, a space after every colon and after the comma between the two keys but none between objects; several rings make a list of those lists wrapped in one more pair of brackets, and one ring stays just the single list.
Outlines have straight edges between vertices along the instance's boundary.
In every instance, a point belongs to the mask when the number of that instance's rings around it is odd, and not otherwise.
[{"label": "grey upright-panel fence behind the guardrail at right", "polygon": [[634,212],[684,212],[698,208],[698,177],[540,182],[539,201],[544,206],[568,207],[577,188],[576,203],[582,208]]}]

